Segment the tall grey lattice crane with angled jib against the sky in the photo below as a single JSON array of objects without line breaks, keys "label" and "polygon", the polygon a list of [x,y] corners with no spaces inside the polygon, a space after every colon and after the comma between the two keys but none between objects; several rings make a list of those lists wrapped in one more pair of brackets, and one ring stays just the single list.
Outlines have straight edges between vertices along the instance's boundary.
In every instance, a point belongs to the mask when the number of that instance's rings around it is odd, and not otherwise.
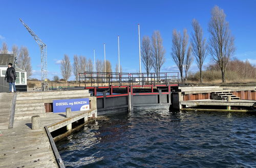
[{"label": "tall grey lattice crane with angled jib against the sky", "polygon": [[41,90],[48,90],[48,78],[47,78],[47,46],[42,40],[30,29],[30,27],[24,23],[22,19],[19,19],[22,24],[26,27],[30,35],[35,39],[39,45],[41,51]]}]

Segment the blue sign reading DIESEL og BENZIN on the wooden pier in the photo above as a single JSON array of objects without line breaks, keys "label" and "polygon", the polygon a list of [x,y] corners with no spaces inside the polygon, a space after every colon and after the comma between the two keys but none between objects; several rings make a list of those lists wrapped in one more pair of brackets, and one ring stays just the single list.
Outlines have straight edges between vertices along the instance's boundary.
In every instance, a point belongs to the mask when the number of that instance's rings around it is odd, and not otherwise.
[{"label": "blue sign reading DIESEL og BENZIN on the wooden pier", "polygon": [[89,110],[89,98],[53,100],[53,113],[65,112],[66,108],[71,108],[71,111]]}]

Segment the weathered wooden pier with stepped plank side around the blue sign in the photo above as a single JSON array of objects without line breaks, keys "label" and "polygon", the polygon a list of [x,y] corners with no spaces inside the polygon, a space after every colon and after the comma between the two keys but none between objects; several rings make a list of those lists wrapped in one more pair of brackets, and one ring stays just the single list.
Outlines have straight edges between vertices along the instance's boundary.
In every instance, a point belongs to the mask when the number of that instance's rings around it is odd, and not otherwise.
[{"label": "weathered wooden pier with stepped plank side around the blue sign", "polygon": [[[13,93],[0,93],[0,167],[65,167],[50,132],[71,126],[73,122],[97,117],[96,97],[88,90],[18,93],[16,108]],[[33,98],[34,97],[34,98]],[[66,113],[45,113],[45,103],[56,99],[89,98],[90,110]],[[29,105],[31,104],[31,105]],[[42,108],[43,107],[43,108]],[[12,115],[12,108],[15,114]],[[40,128],[32,130],[31,117],[40,116]],[[10,128],[10,122],[13,127]],[[9,128],[8,128],[9,125]],[[70,128],[70,127],[69,127]],[[54,148],[55,147],[55,148]]]}]

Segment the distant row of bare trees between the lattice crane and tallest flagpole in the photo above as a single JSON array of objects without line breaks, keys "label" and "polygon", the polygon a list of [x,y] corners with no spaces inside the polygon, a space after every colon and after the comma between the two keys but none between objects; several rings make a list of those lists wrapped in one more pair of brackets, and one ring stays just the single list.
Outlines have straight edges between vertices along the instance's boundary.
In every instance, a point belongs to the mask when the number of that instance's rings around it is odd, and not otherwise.
[{"label": "distant row of bare trees between the lattice crane and tallest flagpole", "polygon": [[[75,80],[79,80],[79,73],[83,72],[94,72],[94,63],[92,59],[88,59],[83,56],[74,55],[73,57],[73,64],[71,64],[69,55],[65,54],[63,59],[61,60],[60,64],[60,70],[61,70],[61,75],[63,79],[68,81],[68,79],[71,77],[72,72],[75,76]],[[96,71],[97,72],[104,72],[105,71],[105,64],[104,61],[102,60],[97,60],[96,61]],[[121,70],[120,66],[120,70]],[[112,72],[112,65],[110,61],[106,60],[106,72]],[[116,69],[117,72],[117,69]]]}]

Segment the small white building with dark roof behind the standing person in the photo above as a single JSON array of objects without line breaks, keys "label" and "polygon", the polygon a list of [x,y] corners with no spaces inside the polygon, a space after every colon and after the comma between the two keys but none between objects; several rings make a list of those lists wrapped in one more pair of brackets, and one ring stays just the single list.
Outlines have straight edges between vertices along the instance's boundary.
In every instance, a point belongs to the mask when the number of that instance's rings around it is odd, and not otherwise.
[{"label": "small white building with dark roof behind the standing person", "polygon": [[[5,80],[5,74],[9,63],[14,65],[14,55],[0,54],[0,92],[9,91],[9,83]],[[18,67],[13,67],[15,68],[17,76],[15,82],[16,90],[18,92],[27,92],[27,72]]]}]

